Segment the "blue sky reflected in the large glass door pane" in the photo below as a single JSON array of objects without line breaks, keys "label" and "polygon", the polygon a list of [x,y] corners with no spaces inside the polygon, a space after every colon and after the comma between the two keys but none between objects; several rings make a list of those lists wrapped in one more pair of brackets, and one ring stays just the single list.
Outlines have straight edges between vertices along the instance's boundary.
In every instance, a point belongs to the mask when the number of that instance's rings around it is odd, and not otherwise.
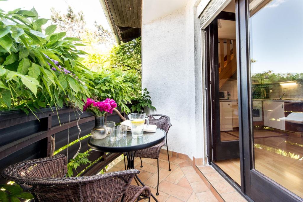
[{"label": "blue sky reflected in the large glass door pane", "polygon": [[303,72],[303,0],[273,0],[249,20],[251,74]]}]

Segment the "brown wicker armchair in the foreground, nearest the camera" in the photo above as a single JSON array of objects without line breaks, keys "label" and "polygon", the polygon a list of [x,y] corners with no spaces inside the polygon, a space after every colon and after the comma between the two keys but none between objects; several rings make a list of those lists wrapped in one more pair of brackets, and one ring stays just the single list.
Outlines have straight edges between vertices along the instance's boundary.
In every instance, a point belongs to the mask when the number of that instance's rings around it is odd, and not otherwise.
[{"label": "brown wicker armchair in the foreground, nearest the camera", "polygon": [[61,154],[16,163],[4,169],[2,176],[20,184],[40,202],[150,200],[149,187],[130,185],[139,173],[136,169],[83,177],[65,177],[66,173],[66,156]]}]

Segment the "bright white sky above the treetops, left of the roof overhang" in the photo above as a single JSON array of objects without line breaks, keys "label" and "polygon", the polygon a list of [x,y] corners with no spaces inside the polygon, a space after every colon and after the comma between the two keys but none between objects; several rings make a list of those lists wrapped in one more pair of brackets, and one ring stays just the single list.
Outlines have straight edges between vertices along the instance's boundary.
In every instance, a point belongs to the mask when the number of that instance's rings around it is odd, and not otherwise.
[{"label": "bright white sky above the treetops, left of the roof overhang", "polygon": [[0,8],[4,11],[24,8],[30,10],[35,6],[41,18],[50,19],[50,9],[54,7],[62,14],[67,12],[68,5],[72,6],[74,12],[83,11],[86,27],[94,28],[94,21],[101,24],[105,29],[110,30],[108,22],[103,13],[99,0],[8,0],[0,1]]}]

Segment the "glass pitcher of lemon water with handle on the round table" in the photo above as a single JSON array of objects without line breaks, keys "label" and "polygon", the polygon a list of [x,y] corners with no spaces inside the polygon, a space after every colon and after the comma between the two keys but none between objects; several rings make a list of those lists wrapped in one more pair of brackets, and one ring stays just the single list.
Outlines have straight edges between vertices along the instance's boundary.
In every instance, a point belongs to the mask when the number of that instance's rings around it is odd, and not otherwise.
[{"label": "glass pitcher of lemon water with handle on the round table", "polygon": [[148,128],[149,118],[145,113],[132,113],[128,115],[128,118],[131,121],[132,137],[141,137],[143,135],[145,119],[147,119],[146,127]]}]

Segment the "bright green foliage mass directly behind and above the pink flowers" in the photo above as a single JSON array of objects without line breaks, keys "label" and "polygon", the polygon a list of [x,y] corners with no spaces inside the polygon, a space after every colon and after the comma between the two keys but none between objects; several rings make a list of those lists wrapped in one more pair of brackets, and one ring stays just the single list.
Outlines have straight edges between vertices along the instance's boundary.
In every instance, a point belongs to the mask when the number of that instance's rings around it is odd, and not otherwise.
[{"label": "bright green foliage mass directly behind and above the pink flowers", "polygon": [[131,103],[131,99],[140,90],[137,74],[118,69],[102,69],[101,72],[94,73],[93,77],[91,82],[95,84],[95,88],[91,90],[91,94],[95,100],[112,98],[122,111],[131,112],[126,104]]}]

